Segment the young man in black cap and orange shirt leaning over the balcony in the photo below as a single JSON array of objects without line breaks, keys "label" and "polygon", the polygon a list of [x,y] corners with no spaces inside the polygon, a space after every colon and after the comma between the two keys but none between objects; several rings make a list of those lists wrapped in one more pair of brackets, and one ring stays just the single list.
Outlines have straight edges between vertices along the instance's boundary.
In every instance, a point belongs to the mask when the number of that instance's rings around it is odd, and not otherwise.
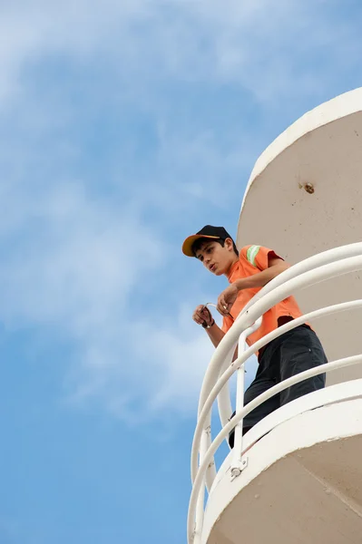
[{"label": "young man in black cap and orange shirt leaning over the balcony", "polygon": [[[222,328],[216,325],[205,306],[197,306],[192,316],[196,323],[205,328],[215,347],[219,345],[221,338],[230,329],[242,308],[261,287],[289,267],[269,248],[246,246],[240,249],[239,254],[225,228],[210,225],[186,238],[182,251],[188,257],[198,258],[215,276],[224,275],[229,280],[230,286],[222,291],[218,298],[218,310],[223,316]],[[295,298],[293,296],[285,298],[264,314],[261,326],[255,333],[249,335],[247,343],[254,344],[262,336],[299,316],[302,316],[302,313]],[[299,325],[264,346],[259,351],[258,362],[256,377],[245,392],[245,404],[290,376],[328,361],[315,332],[309,325]],[[321,389],[324,385],[325,374],[319,374],[274,395],[245,417],[244,433],[279,406],[303,394]],[[233,433],[230,434],[230,445],[233,446]]]}]

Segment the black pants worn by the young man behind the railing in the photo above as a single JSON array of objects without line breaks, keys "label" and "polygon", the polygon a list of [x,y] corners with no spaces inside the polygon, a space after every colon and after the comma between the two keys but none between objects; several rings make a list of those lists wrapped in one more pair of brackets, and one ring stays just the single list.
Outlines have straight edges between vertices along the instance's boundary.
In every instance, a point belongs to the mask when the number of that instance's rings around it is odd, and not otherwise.
[{"label": "black pants worn by the young man behind the railing", "polygon": [[[259,355],[259,368],[254,381],[244,394],[244,405],[250,403],[259,394],[283,380],[299,374],[319,364],[328,363],[318,336],[308,325],[300,325],[270,342]],[[260,404],[243,420],[243,433],[277,410],[283,404],[298,397],[322,389],[326,384],[326,374],[319,374],[303,382],[292,385],[289,389],[272,396]],[[231,417],[235,415],[235,412]],[[230,432],[230,447],[234,445],[234,432]]]}]

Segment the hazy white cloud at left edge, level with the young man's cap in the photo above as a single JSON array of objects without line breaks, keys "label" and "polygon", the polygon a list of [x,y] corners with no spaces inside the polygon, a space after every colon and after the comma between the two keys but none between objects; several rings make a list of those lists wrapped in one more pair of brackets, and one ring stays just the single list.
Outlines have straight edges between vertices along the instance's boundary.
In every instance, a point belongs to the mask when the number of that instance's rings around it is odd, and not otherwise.
[{"label": "hazy white cloud at left edge, level with the young man's cap", "polygon": [[44,187],[41,199],[18,196],[7,195],[7,207],[16,211],[20,202],[20,213],[1,223],[21,238],[0,268],[6,322],[55,319],[79,335],[93,332],[121,314],[142,274],[160,266],[160,244],[132,209],[95,201],[76,185]]}]

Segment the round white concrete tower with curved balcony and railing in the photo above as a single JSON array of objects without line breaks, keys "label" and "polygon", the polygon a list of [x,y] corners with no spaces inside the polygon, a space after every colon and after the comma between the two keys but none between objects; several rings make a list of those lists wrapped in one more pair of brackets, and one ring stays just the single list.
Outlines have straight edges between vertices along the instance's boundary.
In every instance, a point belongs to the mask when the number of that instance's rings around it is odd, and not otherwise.
[{"label": "round white concrete tower with curved balcony and railing", "polygon": [[[251,173],[238,247],[259,244],[299,262],[259,292],[210,361],[191,454],[190,544],[362,542],[361,239],[357,89],[301,117],[260,155]],[[301,322],[312,323],[326,349],[329,363],[317,371],[328,372],[328,387],[279,408],[242,438],[242,417],[269,393],[243,407],[242,364],[259,345],[245,355],[240,349],[237,364],[231,365],[231,354],[238,342],[243,349],[259,317],[290,294],[305,312]],[[295,325],[299,320],[272,335]],[[238,367],[237,415],[229,423],[227,384]],[[279,384],[275,393],[301,376]],[[216,400],[222,429],[211,438]],[[235,447],[216,471],[213,454],[238,420]]]}]

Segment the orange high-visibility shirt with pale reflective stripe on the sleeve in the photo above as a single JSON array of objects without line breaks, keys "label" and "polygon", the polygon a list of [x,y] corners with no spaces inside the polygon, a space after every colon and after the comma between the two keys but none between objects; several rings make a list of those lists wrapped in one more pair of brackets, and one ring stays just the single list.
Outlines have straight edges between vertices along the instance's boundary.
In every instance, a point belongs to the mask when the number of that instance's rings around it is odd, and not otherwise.
[{"label": "orange high-visibility shirt with pale reflective stripe on the sleeve", "polygon": [[[263,248],[262,246],[245,246],[245,248],[241,248],[239,260],[230,269],[228,276],[229,282],[233,283],[242,277],[250,277],[254,274],[259,274],[259,272],[269,267],[268,257],[281,258],[272,249]],[[232,318],[230,316],[225,316],[223,318],[221,328],[225,333],[229,331],[230,326],[234,323],[234,319],[239,316],[242,308],[248,304],[249,300],[256,295],[260,289],[261,287],[254,287],[240,290],[236,301],[230,309]],[[288,296],[288,298],[285,298],[264,314],[259,329],[252,335],[249,335],[247,344],[252,345],[263,336],[268,335],[271,331],[275,330],[279,326],[279,318],[284,316],[293,319],[302,316],[302,312],[300,311],[294,296]]]}]

